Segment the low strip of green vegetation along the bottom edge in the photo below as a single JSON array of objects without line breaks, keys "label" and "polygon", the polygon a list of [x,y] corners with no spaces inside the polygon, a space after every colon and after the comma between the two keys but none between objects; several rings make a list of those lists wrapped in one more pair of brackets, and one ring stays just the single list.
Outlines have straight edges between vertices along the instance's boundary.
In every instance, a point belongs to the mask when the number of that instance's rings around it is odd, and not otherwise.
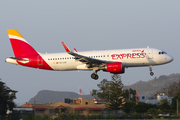
[{"label": "low strip of green vegetation along the bottom edge", "polygon": [[[160,109],[149,109],[148,113],[145,114],[140,114],[140,113],[123,113],[121,115],[115,115],[115,114],[110,114],[108,116],[102,116],[102,115],[90,115],[90,116],[84,116],[84,115],[78,115],[78,114],[66,114],[66,113],[62,113],[59,116],[57,116],[56,118],[44,115],[44,116],[37,116],[37,115],[33,115],[33,114],[27,114],[24,116],[21,115],[9,115],[4,117],[4,119],[1,120],[129,120],[129,119],[134,119],[134,120],[140,120],[140,119],[144,119],[144,120],[149,120],[149,119],[156,119],[159,120],[160,117],[158,117],[157,115],[161,113]],[[151,115],[150,115],[151,114]],[[174,116],[174,117],[165,117],[166,120],[168,119],[179,119],[179,117]]]}]

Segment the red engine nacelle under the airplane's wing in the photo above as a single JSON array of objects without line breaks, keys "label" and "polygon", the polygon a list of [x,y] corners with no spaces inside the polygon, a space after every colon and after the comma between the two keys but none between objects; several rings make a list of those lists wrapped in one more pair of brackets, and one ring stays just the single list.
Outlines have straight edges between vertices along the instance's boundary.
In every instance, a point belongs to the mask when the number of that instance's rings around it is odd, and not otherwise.
[{"label": "red engine nacelle under the airplane's wing", "polygon": [[105,70],[113,74],[121,74],[125,72],[125,68],[121,62],[107,63]]}]

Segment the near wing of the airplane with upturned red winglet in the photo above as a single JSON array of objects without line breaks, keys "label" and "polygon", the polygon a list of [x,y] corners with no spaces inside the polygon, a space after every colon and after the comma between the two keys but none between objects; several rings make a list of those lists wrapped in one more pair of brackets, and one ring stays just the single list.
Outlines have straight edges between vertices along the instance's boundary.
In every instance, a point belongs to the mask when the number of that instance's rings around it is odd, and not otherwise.
[{"label": "near wing of the airplane with upturned red winglet", "polygon": [[67,53],[74,56],[75,60],[78,60],[78,61],[80,61],[82,63],[85,63],[85,64],[89,65],[89,68],[99,66],[99,65],[105,65],[104,63],[109,63],[109,61],[95,59],[95,58],[91,58],[91,57],[87,57],[87,56],[84,56],[84,55],[74,53],[66,46],[66,44],[64,42],[62,42],[62,44],[63,44],[63,46],[64,46]]}]

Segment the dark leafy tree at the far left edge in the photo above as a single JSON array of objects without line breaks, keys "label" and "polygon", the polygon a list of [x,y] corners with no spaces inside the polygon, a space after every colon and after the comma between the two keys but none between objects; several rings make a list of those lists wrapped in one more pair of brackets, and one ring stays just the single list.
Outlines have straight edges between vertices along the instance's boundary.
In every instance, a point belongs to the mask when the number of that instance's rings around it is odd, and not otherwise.
[{"label": "dark leafy tree at the far left edge", "polygon": [[0,115],[6,115],[7,110],[13,110],[17,91],[11,90],[6,84],[0,81]]}]

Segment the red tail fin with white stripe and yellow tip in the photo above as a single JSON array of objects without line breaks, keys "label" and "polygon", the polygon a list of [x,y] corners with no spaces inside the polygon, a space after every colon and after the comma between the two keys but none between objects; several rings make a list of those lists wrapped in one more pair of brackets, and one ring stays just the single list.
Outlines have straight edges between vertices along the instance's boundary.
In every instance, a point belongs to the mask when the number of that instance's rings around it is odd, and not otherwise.
[{"label": "red tail fin with white stripe and yellow tip", "polygon": [[16,29],[7,29],[7,32],[16,58],[38,54]]}]

